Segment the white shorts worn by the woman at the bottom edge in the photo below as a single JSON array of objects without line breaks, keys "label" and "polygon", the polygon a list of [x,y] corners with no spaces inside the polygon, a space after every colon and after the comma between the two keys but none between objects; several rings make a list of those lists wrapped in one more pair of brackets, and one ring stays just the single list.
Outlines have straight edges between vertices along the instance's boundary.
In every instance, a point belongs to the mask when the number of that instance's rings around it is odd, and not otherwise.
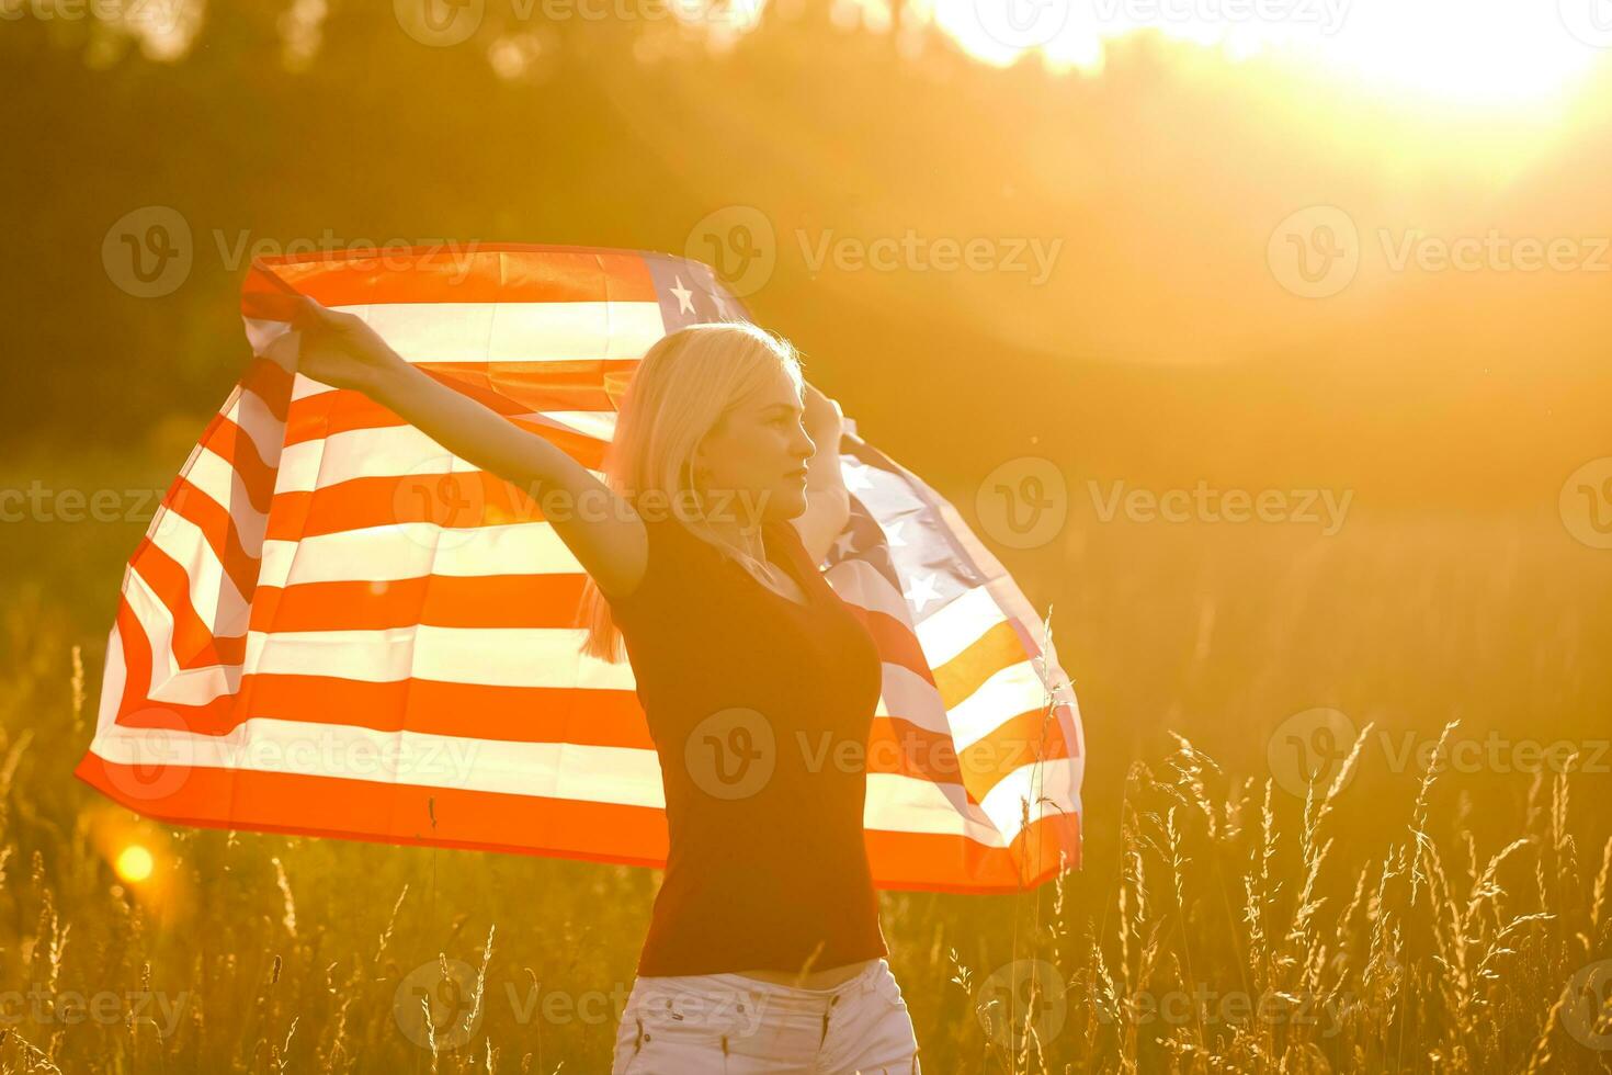
[{"label": "white shorts worn by the woman at the bottom edge", "polygon": [[632,983],[611,1075],[919,1075],[890,962],[829,990],[737,973]]}]

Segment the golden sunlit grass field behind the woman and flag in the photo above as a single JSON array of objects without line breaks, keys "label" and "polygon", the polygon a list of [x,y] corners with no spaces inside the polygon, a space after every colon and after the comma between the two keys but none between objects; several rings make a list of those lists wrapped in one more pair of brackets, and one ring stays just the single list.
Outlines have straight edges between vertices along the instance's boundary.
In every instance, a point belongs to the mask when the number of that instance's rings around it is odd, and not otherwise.
[{"label": "golden sunlit grass field behind the woman and flag", "polygon": [[[609,1069],[658,874],[113,806],[69,774],[143,522],[6,530],[0,1072]],[[1609,558],[1549,511],[1075,511],[1004,556],[1085,714],[1085,865],[882,894],[924,1070],[1612,1070]]]}]

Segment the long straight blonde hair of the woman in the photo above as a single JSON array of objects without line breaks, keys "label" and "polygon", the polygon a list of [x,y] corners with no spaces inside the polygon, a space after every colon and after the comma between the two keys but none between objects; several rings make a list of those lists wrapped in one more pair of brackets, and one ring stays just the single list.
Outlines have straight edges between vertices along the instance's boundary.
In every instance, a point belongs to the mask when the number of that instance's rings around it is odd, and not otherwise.
[{"label": "long straight blonde hair of the woman", "polygon": [[[795,345],[750,322],[693,324],[661,337],[638,363],[617,408],[616,435],[604,451],[604,485],[635,508],[640,501],[674,506],[672,519],[685,530],[761,572],[756,558],[704,522],[693,456],[706,434],[779,369],[804,392]],[[609,603],[590,575],[582,583],[577,624],[587,629],[582,653],[613,664],[627,659]]]}]

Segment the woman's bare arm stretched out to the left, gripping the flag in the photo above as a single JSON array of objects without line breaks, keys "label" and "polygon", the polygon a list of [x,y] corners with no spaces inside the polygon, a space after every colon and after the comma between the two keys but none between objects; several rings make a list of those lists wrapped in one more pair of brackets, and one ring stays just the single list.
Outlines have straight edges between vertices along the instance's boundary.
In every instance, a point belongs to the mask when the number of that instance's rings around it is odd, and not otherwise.
[{"label": "woman's bare arm stretched out to the left, gripping the flag", "polygon": [[[301,298],[298,372],[355,388],[453,454],[513,482],[608,596],[637,588],[648,564],[643,521],[585,466],[537,434],[411,366],[363,318]],[[553,511],[548,511],[553,508]]]}]

